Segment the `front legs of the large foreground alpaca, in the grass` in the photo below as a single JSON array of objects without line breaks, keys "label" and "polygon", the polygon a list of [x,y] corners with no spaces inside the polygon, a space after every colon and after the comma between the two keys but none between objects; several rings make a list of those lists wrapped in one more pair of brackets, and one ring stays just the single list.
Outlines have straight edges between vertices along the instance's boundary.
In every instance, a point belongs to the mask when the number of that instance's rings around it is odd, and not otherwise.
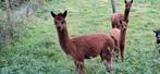
[{"label": "front legs of the large foreground alpaca, in the grass", "polygon": [[78,71],[78,74],[86,74],[84,69],[84,62],[74,61],[74,64],[76,66],[76,70]]}]

